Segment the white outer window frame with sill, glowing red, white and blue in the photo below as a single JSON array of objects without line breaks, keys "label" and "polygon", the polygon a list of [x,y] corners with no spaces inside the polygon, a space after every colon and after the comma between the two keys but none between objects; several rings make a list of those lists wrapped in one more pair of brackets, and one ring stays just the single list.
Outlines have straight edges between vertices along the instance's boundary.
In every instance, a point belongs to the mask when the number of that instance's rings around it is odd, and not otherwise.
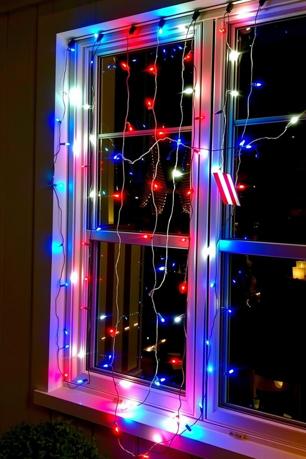
[{"label": "white outer window frame with sill, glowing red, white and blue", "polygon": [[[217,2],[216,2],[217,3]],[[257,1],[256,2],[242,2],[242,5],[238,2],[235,6],[236,11],[234,10],[230,16],[230,22],[232,24],[243,25],[243,23],[250,24],[254,21],[254,17],[257,10]],[[267,19],[267,18],[277,18],[281,17],[282,14],[302,14],[301,3],[295,4],[290,2],[290,4],[277,6],[278,1],[271,1],[271,6],[265,6],[264,11],[262,11],[261,16],[258,18],[258,23]],[[304,3],[303,3],[304,5]],[[213,6],[213,5],[212,5]],[[55,114],[56,117],[60,118],[62,113],[62,78],[63,78],[63,64],[67,49],[67,40],[72,37],[92,35],[96,31],[107,31],[122,28],[124,34],[122,37],[126,36],[126,29],[131,26],[131,24],[138,24],[140,22],[158,22],[161,17],[171,17],[173,16],[173,21],[175,22],[175,17],[180,17],[184,13],[188,13],[184,22],[189,24],[191,21],[192,12],[196,9],[202,11],[201,16],[197,21],[197,31],[195,40],[202,40],[204,43],[203,47],[203,56],[200,53],[200,47],[195,47],[195,62],[197,69],[200,68],[202,73],[202,90],[201,90],[201,114],[204,110],[204,115],[206,119],[209,120],[211,112],[215,113],[220,110],[223,101],[223,70],[224,62],[223,56],[225,56],[225,44],[224,40],[220,37],[222,35],[218,34],[219,25],[222,23],[223,14],[225,11],[224,8],[217,9],[217,5],[212,8],[203,8],[203,4],[199,1],[193,1],[180,6],[169,7],[164,10],[150,11],[150,13],[139,14],[134,17],[118,18],[117,20],[109,20],[102,24],[96,24],[95,26],[90,25],[86,28],[79,28],[79,23],[81,20],[81,12],[79,16],[76,15],[71,20],[70,30],[62,32],[67,28],[67,18],[69,11],[65,15],[54,15],[52,21],[50,17],[42,18],[39,23],[39,63],[46,63],[47,57],[44,56],[45,45],[55,45],[56,39],[56,78],[52,80],[49,77],[47,87],[49,90],[54,91],[55,88]],[[205,11],[203,11],[205,10]],[[241,20],[239,14],[241,11],[248,10],[243,13],[248,15],[247,19]],[[305,9],[304,9],[305,11]],[[190,14],[191,13],[191,14]],[[216,30],[214,34],[215,39],[215,60],[214,60],[214,93],[211,94],[211,91],[207,88],[211,87],[211,64],[207,65],[207,62],[211,62],[212,56],[212,46],[211,39],[212,37],[212,25],[213,20],[216,19]],[[205,26],[203,27],[203,22]],[[244,21],[244,22],[243,22]],[[181,19],[178,20],[181,22]],[[184,39],[184,34],[182,34],[180,39]],[[124,45],[126,43],[125,39],[122,39]],[[167,40],[168,42],[168,40]],[[90,40],[88,41],[88,45]],[[144,42],[143,42],[144,43]],[[148,42],[150,46],[154,45],[154,42]],[[206,45],[205,45],[206,44]],[[131,49],[133,48],[133,43],[131,40]],[[137,46],[137,45],[136,45]],[[111,50],[109,51],[111,53]],[[75,61],[75,78],[77,78],[78,84],[80,83],[81,87],[87,88],[87,76],[84,71],[84,62],[89,62],[89,48],[86,47],[86,42],[82,42],[81,45],[77,45],[76,49],[77,59]],[[73,77],[74,78],[74,77]],[[40,94],[43,95],[45,87],[44,81],[39,80],[40,84]],[[51,84],[50,84],[51,82]],[[211,98],[213,102],[213,109],[211,111]],[[83,103],[87,103],[86,94],[83,94]],[[50,107],[42,104],[38,106],[38,145],[42,145],[43,133],[46,132],[46,128],[40,119],[45,119],[46,113],[48,113]],[[70,183],[69,190],[72,196],[71,205],[68,206],[68,198],[64,194],[61,196],[61,208],[63,215],[69,215],[69,218],[63,219],[62,233],[64,235],[69,233],[72,237],[72,247],[73,250],[71,255],[68,257],[67,264],[67,281],[69,279],[69,270],[76,270],[78,273],[78,279],[83,279],[86,274],[87,268],[87,258],[84,255],[81,241],[86,240],[86,229],[84,225],[84,217],[86,215],[85,211],[85,202],[83,200],[83,194],[87,189],[86,179],[82,176],[83,171],[81,164],[83,158],[86,158],[87,154],[87,132],[84,129],[84,112],[80,109],[70,108],[70,120],[73,119],[73,128],[70,123],[68,126],[67,118],[64,118],[63,123],[61,124],[62,130],[62,140],[65,141],[65,134],[69,134],[69,129],[73,129],[73,132],[70,132],[69,140],[75,145],[74,153],[72,148],[69,147],[68,154],[58,155],[56,162],[56,179],[55,182],[65,182],[68,177],[68,170],[73,170],[73,180]],[[189,294],[195,295],[198,298],[198,307],[196,316],[194,311],[190,308],[188,312],[188,346],[189,351],[187,355],[187,365],[191,364],[192,354],[195,352],[194,366],[192,365],[192,378],[189,378],[189,381],[192,381],[192,386],[195,387],[193,391],[189,387],[189,383],[186,386],[186,399],[184,401],[180,423],[184,425],[186,422],[192,424],[194,420],[199,416],[198,403],[202,400],[203,393],[203,381],[205,377],[205,372],[203,371],[203,362],[206,360],[207,348],[205,346],[206,336],[203,333],[203,330],[206,330],[206,334],[209,335],[209,331],[212,328],[212,324],[215,317],[216,311],[216,298],[214,294],[214,289],[210,289],[209,285],[211,280],[215,279],[217,274],[217,280],[221,279],[220,273],[220,263],[216,264],[220,260],[220,252],[229,251],[224,247],[224,244],[227,244],[229,241],[220,241],[217,245],[216,252],[216,242],[217,237],[220,232],[220,222],[221,222],[221,202],[217,192],[217,186],[211,179],[211,168],[214,165],[219,165],[220,163],[220,152],[217,151],[220,148],[221,144],[221,130],[223,127],[222,117],[213,117],[213,130],[212,138],[210,144],[210,122],[207,122],[205,126],[202,125],[201,132],[196,132],[196,135],[200,135],[200,146],[203,151],[205,149],[209,150],[212,148],[213,153],[211,157],[207,154],[203,154],[200,157],[195,157],[195,169],[198,168],[197,177],[200,187],[199,202],[200,202],[200,212],[198,213],[198,220],[196,225],[200,229],[208,228],[209,224],[209,234],[211,235],[209,245],[201,231],[198,231],[198,239],[193,241],[193,234],[191,234],[192,244],[195,244],[194,247],[197,247],[197,253],[191,259],[191,267],[189,268]],[[55,129],[54,135],[54,151],[57,151],[58,146],[58,136]],[[76,145],[79,145],[79,154]],[[67,147],[64,147],[67,148]],[[53,149],[48,150],[50,157],[53,157]],[[197,164],[199,162],[199,164]],[[71,174],[71,173],[70,173]],[[70,175],[71,177],[71,175]],[[196,175],[194,174],[194,177]],[[195,184],[197,187],[197,184]],[[208,203],[208,190],[210,190],[210,222],[208,222],[208,213],[209,213],[209,203]],[[80,203],[82,203],[80,205]],[[59,224],[58,224],[58,208],[57,204],[54,201],[54,213],[53,213],[53,240],[57,241],[59,239]],[[213,212],[212,212],[213,209]],[[71,218],[72,217],[72,218]],[[73,223],[72,226],[70,222]],[[60,242],[60,241],[59,241]],[[237,242],[237,241],[235,241]],[[300,248],[300,246],[299,246]],[[249,247],[248,247],[249,250]],[[232,250],[230,250],[232,251]],[[193,252],[193,247],[190,252]],[[299,257],[301,252],[299,251]],[[83,419],[90,420],[96,423],[102,423],[112,427],[111,416],[110,414],[114,413],[114,388],[113,383],[110,381],[110,378],[107,376],[93,375],[91,373],[92,382],[90,388],[86,385],[77,387],[72,390],[67,388],[65,383],[63,383],[62,378],[59,377],[57,369],[57,349],[55,344],[57,329],[57,319],[55,315],[55,297],[57,294],[57,285],[59,279],[59,273],[61,272],[62,260],[61,257],[58,257],[57,254],[52,256],[52,271],[51,271],[51,292],[50,292],[50,318],[49,318],[49,346],[48,346],[48,355],[45,358],[45,361],[42,361],[42,368],[44,365],[47,365],[49,369],[47,380],[42,378],[38,381],[43,381],[42,383],[37,384],[37,389],[34,392],[34,401],[35,403],[47,406],[52,409],[58,409],[59,411],[64,411],[68,414],[82,417]],[[217,266],[217,273],[215,272]],[[66,269],[66,267],[65,267]],[[197,273],[197,282],[192,286],[190,282],[190,272]],[[190,288],[191,285],[191,288]],[[68,291],[70,289],[61,289],[61,294],[57,302],[57,314],[60,318],[60,329],[64,323],[64,314],[65,314],[65,301],[67,300],[68,308],[66,314],[66,323],[69,327],[69,336],[72,336],[69,341],[69,352],[74,353],[74,346],[77,346],[77,353],[80,349],[85,348],[86,344],[86,321],[80,316],[79,306],[80,304],[85,304],[87,299],[86,289],[80,288],[80,283],[72,285],[71,293]],[[220,284],[217,281],[217,295],[220,301],[221,298],[221,289]],[[67,297],[67,298],[66,298]],[[206,307],[200,307],[201,300],[203,304],[206,303],[208,307],[208,322],[206,323]],[[85,311],[82,311],[85,312]],[[39,320],[39,319],[38,319]],[[61,331],[60,331],[61,333]],[[77,341],[74,341],[78,337]],[[76,345],[75,342],[78,344]],[[289,425],[280,425],[279,423],[267,419],[261,419],[252,415],[245,413],[239,413],[239,411],[230,410],[227,408],[219,407],[218,404],[218,367],[219,367],[219,316],[215,321],[215,326],[213,328],[213,335],[211,339],[211,357],[210,363],[214,369],[211,373],[208,373],[208,384],[207,384],[207,404],[203,411],[202,418],[197,422],[197,424],[192,428],[191,432],[186,431],[184,435],[176,437],[172,443],[173,448],[181,449],[190,454],[196,454],[199,456],[203,455],[203,445],[209,444],[217,446],[220,448],[228,449],[236,453],[246,454],[253,458],[262,458],[269,457],[270,459],[289,459],[293,457],[304,457],[305,456],[305,444],[306,444],[306,432],[304,429],[293,427]],[[68,368],[68,373],[70,375],[69,379],[75,380],[76,378],[86,378],[88,377],[87,372],[85,371],[85,360],[84,358],[78,358],[73,356],[72,358],[67,358],[65,362],[65,354],[67,351],[63,350],[63,355],[60,355],[59,364],[60,366],[65,363]],[[188,363],[189,362],[189,363]],[[62,367],[63,368],[63,367]],[[187,368],[188,371],[188,368]],[[103,380],[103,385],[101,386],[101,380]],[[146,389],[139,386],[139,392],[137,397],[141,400],[144,398]],[[151,401],[145,406],[142,405],[141,408],[137,410],[137,413],[128,411],[122,414],[122,425],[121,430],[129,432],[131,434],[137,435],[139,437],[144,437],[150,440],[153,440],[153,436],[156,432],[162,433],[163,439],[169,437],[169,432],[174,432],[176,430],[176,421],[173,425],[173,416],[175,416],[175,411],[178,407],[178,397],[176,394],[169,394],[159,389],[153,388],[153,393],[156,395],[155,400],[158,399],[158,403]],[[125,423],[124,418],[129,418],[134,420],[133,423]],[[236,435],[238,432],[238,435]],[[244,435],[244,440],[241,440],[239,437],[240,432]],[[190,442],[190,439],[193,439]]]}]

